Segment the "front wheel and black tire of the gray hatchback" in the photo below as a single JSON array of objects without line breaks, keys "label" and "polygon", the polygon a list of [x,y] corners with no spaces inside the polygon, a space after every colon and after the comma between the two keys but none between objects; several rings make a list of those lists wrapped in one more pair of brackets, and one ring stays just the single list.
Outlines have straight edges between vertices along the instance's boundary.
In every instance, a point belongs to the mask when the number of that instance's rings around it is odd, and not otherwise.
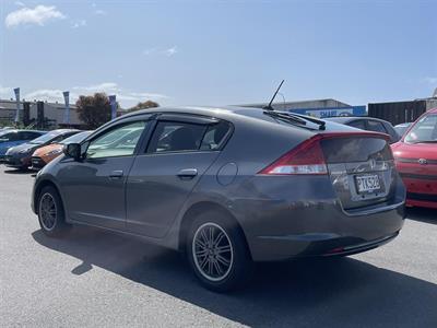
[{"label": "front wheel and black tire of the gray hatchback", "polygon": [[49,237],[64,236],[71,225],[66,223],[66,213],[58,191],[51,186],[44,187],[39,192],[37,204],[38,222],[43,233]]}]

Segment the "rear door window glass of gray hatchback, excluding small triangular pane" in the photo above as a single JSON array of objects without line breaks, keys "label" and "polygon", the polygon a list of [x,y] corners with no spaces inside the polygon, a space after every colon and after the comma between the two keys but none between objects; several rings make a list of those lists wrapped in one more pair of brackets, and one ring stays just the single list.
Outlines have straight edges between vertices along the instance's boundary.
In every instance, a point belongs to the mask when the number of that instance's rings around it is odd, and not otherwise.
[{"label": "rear door window glass of gray hatchback, excluding small triangular pane", "polygon": [[160,121],[147,147],[147,153],[197,151],[202,144],[206,129],[206,125]]}]

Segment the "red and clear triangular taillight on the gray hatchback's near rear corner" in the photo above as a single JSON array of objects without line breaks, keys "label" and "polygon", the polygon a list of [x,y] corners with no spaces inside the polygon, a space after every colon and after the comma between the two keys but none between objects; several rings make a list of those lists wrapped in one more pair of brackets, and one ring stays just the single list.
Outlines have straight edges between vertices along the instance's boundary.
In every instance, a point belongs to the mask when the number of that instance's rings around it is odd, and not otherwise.
[{"label": "red and clear triangular taillight on the gray hatchback's near rear corner", "polygon": [[258,174],[294,175],[294,174],[327,174],[320,137],[312,137],[279,160],[260,171]]}]

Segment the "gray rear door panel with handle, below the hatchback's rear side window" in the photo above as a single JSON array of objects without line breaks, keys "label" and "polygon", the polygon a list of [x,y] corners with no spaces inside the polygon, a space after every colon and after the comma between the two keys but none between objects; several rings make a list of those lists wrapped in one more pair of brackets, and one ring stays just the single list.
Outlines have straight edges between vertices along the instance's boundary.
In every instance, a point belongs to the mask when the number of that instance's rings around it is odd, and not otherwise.
[{"label": "gray rear door panel with handle, below the hatchback's rear side window", "polygon": [[127,229],[163,237],[218,152],[144,154],[127,180]]}]

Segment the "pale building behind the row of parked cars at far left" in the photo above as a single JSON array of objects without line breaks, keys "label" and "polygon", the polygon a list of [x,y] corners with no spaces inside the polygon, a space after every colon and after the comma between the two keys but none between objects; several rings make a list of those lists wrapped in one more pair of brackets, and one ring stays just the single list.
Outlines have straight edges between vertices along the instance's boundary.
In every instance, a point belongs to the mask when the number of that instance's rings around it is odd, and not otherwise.
[{"label": "pale building behind the row of parked cars at far left", "polygon": [[[16,114],[16,102],[0,99],[0,121],[11,125]],[[47,102],[20,102],[20,121],[24,126],[38,128],[74,127],[81,128],[83,122],[74,105],[70,105],[70,121],[64,124],[66,105]]]}]

